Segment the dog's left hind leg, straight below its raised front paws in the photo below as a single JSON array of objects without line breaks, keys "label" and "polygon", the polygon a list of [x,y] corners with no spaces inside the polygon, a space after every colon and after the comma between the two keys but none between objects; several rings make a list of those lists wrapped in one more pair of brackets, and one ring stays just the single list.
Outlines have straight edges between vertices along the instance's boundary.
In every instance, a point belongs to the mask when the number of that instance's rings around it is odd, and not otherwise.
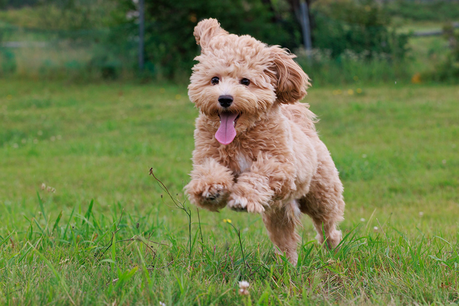
[{"label": "dog's left hind leg, straight below its raised front paws", "polygon": [[263,214],[263,222],[268,230],[269,239],[275,245],[275,252],[277,254],[285,253],[293,265],[296,265],[298,261],[296,248],[300,236],[295,227],[300,222],[299,215],[300,211],[295,201],[286,206],[265,211]]}]

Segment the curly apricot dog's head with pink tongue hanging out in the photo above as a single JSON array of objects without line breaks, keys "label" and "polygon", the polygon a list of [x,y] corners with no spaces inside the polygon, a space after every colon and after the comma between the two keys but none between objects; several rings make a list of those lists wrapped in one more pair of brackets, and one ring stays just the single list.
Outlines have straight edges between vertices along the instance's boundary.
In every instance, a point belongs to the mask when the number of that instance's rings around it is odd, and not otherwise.
[{"label": "curly apricot dog's head with pink tongue hanging out", "polygon": [[215,137],[222,144],[266,119],[273,106],[302,99],[311,85],[294,55],[248,35],[228,34],[216,19],[200,21],[194,36],[201,54],[188,95],[218,127]]}]

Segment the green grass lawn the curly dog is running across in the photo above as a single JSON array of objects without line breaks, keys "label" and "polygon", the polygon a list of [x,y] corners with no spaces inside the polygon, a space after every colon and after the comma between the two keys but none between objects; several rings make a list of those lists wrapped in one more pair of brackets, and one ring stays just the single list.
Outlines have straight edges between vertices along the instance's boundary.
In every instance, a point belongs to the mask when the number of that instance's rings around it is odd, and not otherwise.
[{"label": "green grass lawn the curly dog is running across", "polygon": [[0,304],[457,304],[459,91],[359,86],[306,99],[345,238],[320,248],[304,217],[293,267],[260,216],[188,205],[185,86],[0,80]]}]

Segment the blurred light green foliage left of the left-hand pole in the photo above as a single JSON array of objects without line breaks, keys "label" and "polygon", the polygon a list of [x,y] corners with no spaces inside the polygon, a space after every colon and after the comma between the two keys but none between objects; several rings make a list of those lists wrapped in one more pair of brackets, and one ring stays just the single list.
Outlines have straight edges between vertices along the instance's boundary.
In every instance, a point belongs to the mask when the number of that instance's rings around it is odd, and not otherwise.
[{"label": "blurred light green foliage left of the left-hand pole", "polygon": [[[4,12],[2,17],[10,23],[2,24],[8,39],[23,43],[9,50],[10,55],[21,58],[19,66],[27,68],[18,72],[21,76],[111,80],[132,75],[136,69],[138,30],[126,22],[122,3],[45,0],[34,7]],[[28,44],[35,41],[44,45],[34,48],[33,43]]]}]

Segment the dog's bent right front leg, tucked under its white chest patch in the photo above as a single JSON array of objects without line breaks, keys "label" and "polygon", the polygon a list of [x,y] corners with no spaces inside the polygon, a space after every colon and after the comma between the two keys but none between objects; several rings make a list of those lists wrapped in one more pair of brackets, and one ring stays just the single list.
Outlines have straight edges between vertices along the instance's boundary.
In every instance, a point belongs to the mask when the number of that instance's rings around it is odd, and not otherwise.
[{"label": "dog's bent right front leg, tucked under its white chest patch", "polygon": [[273,198],[286,198],[295,189],[293,164],[261,154],[231,189],[228,207],[236,211],[263,213]]}]

